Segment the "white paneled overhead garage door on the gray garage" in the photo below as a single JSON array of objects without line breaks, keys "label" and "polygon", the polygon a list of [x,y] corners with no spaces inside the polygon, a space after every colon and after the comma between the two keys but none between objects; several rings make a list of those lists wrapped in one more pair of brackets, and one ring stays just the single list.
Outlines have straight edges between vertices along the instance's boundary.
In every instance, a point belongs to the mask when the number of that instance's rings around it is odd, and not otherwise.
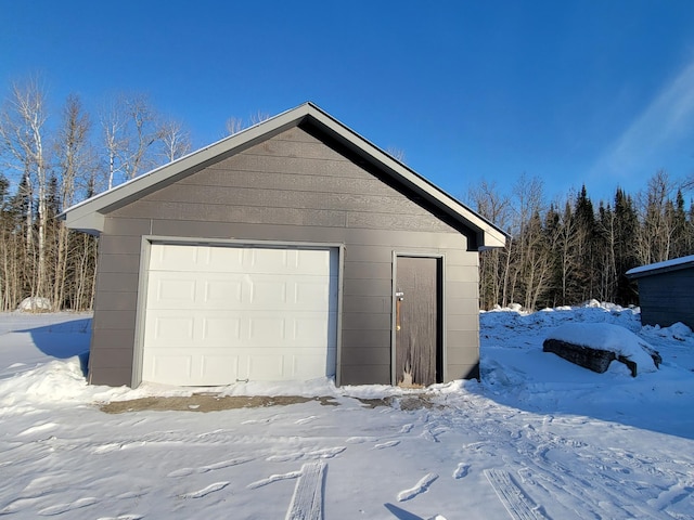
[{"label": "white paneled overhead garage door on the gray garage", "polygon": [[142,380],[330,376],[336,338],[336,249],[152,245]]}]

